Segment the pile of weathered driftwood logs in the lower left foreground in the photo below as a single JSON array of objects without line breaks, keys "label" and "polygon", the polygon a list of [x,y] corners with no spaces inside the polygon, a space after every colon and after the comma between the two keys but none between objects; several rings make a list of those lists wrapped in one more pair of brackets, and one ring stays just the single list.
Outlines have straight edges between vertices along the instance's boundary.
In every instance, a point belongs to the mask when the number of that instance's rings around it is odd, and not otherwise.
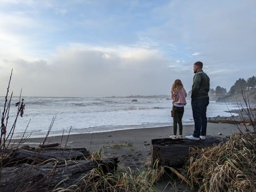
[{"label": "pile of weathered driftwood logs in the lower left foreground", "polygon": [[117,158],[94,159],[80,149],[16,149],[2,161],[0,191],[51,191],[75,184],[94,168],[103,173],[117,167]]}]

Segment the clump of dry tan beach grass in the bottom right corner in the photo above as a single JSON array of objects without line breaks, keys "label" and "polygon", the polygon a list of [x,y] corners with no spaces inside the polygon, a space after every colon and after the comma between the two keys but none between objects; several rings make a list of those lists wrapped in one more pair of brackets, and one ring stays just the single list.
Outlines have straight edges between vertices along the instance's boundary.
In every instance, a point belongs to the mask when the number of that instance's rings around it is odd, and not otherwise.
[{"label": "clump of dry tan beach grass in the bottom right corner", "polygon": [[234,135],[226,143],[190,153],[186,167],[198,191],[256,191],[255,133]]}]

